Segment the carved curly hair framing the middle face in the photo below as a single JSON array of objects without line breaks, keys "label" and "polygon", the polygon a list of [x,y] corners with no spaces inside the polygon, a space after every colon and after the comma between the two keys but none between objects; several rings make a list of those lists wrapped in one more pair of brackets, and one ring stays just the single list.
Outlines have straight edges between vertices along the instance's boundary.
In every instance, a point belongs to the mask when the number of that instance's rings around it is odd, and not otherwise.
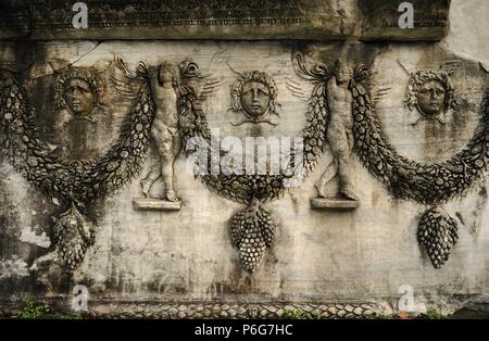
[{"label": "carved curly hair framing the middle face", "polygon": [[269,104],[268,104],[268,112],[271,114],[278,115],[278,106],[280,106],[280,103],[277,100],[278,94],[278,88],[275,84],[275,80],[268,76],[268,74],[260,71],[251,71],[243,74],[240,74],[240,77],[236,83],[233,85],[231,88],[231,110],[235,113],[243,113],[244,110],[242,108],[241,103],[241,93],[242,88],[246,84],[256,81],[263,84],[269,92]]}]

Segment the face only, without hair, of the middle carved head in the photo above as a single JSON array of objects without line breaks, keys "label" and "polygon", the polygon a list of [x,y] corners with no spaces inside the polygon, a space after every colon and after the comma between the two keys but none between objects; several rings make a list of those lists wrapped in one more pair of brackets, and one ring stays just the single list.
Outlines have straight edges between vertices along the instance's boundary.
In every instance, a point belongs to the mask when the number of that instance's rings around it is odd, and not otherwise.
[{"label": "face only, without hair, of the middle carved head", "polygon": [[251,117],[263,116],[269,104],[269,90],[266,85],[259,81],[246,83],[242,87],[241,104]]}]

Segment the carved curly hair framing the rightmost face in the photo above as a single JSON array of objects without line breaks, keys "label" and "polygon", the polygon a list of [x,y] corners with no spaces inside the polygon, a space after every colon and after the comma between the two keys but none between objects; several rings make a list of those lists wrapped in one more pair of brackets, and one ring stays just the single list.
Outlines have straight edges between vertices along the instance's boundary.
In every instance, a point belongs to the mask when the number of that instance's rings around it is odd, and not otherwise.
[{"label": "carved curly hair framing the rightmost face", "polygon": [[[418,71],[411,75],[405,90],[404,103],[410,110],[416,108],[418,111],[417,94],[427,83],[437,81],[444,89],[446,97],[443,103],[443,113],[449,109],[457,110],[459,103],[455,100],[455,90],[453,89],[450,76],[443,71]],[[421,112],[421,111],[419,111]]]}]

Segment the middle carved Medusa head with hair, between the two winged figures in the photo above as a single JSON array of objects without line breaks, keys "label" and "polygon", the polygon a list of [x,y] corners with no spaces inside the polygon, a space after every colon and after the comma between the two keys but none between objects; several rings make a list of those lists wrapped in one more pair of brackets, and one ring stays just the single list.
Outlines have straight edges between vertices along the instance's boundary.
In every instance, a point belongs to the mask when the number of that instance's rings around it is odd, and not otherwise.
[{"label": "middle carved Medusa head with hair, between the two winged figures", "polygon": [[[243,114],[247,119],[242,123],[268,123],[265,117],[269,114],[279,116],[277,86],[275,80],[264,72],[251,71],[239,74],[238,80],[231,88],[231,110]],[[273,124],[275,125],[275,124]]]}]

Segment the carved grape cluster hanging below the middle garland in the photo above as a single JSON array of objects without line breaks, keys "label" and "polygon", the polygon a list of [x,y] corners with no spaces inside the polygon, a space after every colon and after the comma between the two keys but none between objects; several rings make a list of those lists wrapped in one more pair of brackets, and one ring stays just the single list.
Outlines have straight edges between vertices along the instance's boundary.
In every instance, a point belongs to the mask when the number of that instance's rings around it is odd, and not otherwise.
[{"label": "carved grape cluster hanging below the middle garland", "polygon": [[231,241],[239,249],[239,256],[247,270],[253,273],[272,247],[275,223],[260,206],[250,206],[239,212],[231,220]]}]

